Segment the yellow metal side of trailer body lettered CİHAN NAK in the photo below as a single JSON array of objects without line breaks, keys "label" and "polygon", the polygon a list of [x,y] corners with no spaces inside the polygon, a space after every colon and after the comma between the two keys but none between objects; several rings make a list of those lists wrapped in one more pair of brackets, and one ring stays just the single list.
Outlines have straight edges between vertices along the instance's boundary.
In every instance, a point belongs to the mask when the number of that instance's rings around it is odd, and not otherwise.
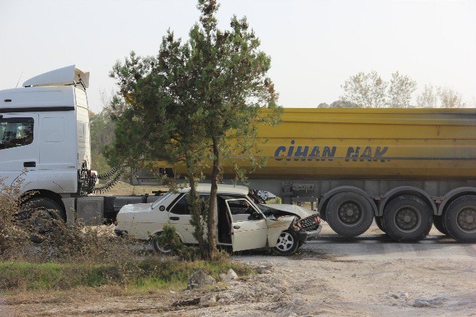
[{"label": "yellow metal side of trailer body lettered C\u0130HAN NAK", "polygon": [[476,178],[476,109],[288,108],[282,121],[259,127],[268,161],[250,178]]}]

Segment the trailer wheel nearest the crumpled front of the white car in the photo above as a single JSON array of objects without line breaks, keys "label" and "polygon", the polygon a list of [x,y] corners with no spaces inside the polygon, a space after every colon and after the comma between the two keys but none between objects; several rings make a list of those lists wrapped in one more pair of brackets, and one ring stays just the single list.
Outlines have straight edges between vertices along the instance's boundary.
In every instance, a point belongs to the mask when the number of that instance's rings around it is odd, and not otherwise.
[{"label": "trailer wheel nearest the crumpled front of the white car", "polygon": [[358,193],[337,193],[330,198],[325,217],[337,234],[357,237],[366,232],[374,220],[374,212],[369,200]]}]

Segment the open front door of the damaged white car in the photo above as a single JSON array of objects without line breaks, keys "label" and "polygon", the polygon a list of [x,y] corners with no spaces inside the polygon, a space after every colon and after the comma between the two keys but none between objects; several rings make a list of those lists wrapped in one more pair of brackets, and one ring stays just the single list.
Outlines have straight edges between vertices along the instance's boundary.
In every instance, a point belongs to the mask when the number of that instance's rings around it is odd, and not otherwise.
[{"label": "open front door of the damaged white car", "polygon": [[268,226],[264,215],[244,198],[225,202],[232,219],[233,251],[266,247]]}]

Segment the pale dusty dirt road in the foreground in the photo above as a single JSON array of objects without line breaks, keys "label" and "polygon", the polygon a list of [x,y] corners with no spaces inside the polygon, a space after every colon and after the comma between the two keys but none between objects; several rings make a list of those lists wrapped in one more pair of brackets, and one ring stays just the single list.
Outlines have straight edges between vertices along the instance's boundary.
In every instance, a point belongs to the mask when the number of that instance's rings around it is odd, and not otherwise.
[{"label": "pale dusty dirt road in the foreground", "polygon": [[250,252],[234,259],[261,274],[147,296],[107,289],[4,296],[0,316],[476,316],[476,246],[436,231],[399,244],[377,227],[355,240],[325,229],[293,257]]}]

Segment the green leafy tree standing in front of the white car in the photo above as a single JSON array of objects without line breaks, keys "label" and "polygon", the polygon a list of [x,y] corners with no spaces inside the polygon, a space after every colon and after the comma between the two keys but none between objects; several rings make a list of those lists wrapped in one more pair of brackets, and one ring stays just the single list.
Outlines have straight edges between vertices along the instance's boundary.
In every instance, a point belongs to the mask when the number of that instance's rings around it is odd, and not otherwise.
[{"label": "green leafy tree standing in front of the white car", "polygon": [[[131,52],[111,72],[121,107],[114,116],[116,141],[108,149],[109,161],[185,164],[194,236],[205,257],[215,252],[214,201],[222,164],[239,156],[259,166],[257,125],[276,124],[281,113],[273,82],[266,77],[271,58],[259,50],[246,18],[233,16],[231,29],[219,30],[218,7],[215,0],[199,0],[200,23],[190,29],[188,41],[169,30],[158,55]],[[232,149],[228,140],[236,138]],[[210,162],[212,193],[204,213],[195,185]],[[237,171],[237,176],[244,173]]]}]

